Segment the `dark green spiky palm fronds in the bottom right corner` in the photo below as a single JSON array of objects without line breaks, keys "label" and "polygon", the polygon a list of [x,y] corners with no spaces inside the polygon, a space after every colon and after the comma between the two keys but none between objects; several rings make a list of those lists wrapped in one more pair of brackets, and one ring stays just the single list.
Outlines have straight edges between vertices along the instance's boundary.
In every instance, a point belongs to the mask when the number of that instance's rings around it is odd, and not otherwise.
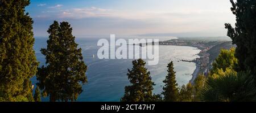
[{"label": "dark green spiky palm fronds in the bottom right corner", "polygon": [[256,89],[250,72],[226,71],[216,78],[209,77],[201,91],[203,101],[255,101]]}]

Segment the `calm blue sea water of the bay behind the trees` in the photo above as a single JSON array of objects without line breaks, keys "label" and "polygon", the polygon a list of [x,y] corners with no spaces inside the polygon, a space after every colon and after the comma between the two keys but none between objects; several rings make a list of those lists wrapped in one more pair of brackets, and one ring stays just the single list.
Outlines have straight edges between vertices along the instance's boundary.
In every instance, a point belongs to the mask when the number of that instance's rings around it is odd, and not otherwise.
[{"label": "calm blue sea water of the bay behind the trees", "polygon": [[[129,37],[130,38],[130,37]],[[133,38],[155,38],[155,37],[133,37]],[[158,37],[159,40],[170,40],[174,37]],[[106,37],[108,39],[108,37]],[[84,90],[77,101],[89,102],[108,102],[119,101],[123,96],[125,86],[129,85],[127,79],[127,68],[132,68],[133,59],[98,59],[97,51],[101,46],[97,46],[99,38],[76,38],[77,44],[82,49],[84,61],[88,66],[86,76],[88,82],[82,86]],[[35,38],[36,58],[40,66],[45,63],[44,55],[40,49],[47,46],[47,38]],[[151,73],[152,81],[155,82],[154,93],[162,92],[163,80],[167,75],[167,64],[174,61],[176,80],[179,86],[187,84],[192,78],[192,73],[196,69],[195,63],[179,62],[181,59],[193,60],[199,58],[199,49],[189,46],[159,46],[159,63],[156,66],[148,66]],[[93,55],[95,57],[93,58]],[[36,78],[32,78],[32,84],[35,85]],[[48,101],[48,98],[43,98]]]}]

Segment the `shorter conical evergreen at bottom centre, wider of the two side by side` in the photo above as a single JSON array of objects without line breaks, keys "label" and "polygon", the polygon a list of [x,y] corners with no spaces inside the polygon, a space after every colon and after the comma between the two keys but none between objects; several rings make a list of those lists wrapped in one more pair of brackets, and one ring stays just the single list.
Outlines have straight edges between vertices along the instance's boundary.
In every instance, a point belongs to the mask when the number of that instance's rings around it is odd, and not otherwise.
[{"label": "shorter conical evergreen at bottom centre, wider of the two side by side", "polygon": [[130,86],[125,87],[125,95],[121,98],[123,102],[148,102],[155,101],[155,95],[152,95],[154,82],[151,81],[150,72],[145,68],[145,62],[142,59],[133,61],[133,68],[128,69],[128,79]]}]

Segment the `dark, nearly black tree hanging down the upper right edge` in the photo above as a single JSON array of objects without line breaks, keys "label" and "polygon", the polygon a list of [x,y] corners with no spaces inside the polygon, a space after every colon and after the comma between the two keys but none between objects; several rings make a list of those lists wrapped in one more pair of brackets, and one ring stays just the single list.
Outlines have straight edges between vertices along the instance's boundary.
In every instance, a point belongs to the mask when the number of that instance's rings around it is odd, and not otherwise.
[{"label": "dark, nearly black tree hanging down the upper right edge", "polygon": [[[236,27],[231,24],[225,24],[228,29],[228,36],[233,44],[237,45],[236,57],[238,58],[237,71],[246,71],[247,69],[256,74],[256,1],[255,0],[237,0],[232,3],[232,12],[236,15]],[[256,76],[254,76],[256,80]]]}]

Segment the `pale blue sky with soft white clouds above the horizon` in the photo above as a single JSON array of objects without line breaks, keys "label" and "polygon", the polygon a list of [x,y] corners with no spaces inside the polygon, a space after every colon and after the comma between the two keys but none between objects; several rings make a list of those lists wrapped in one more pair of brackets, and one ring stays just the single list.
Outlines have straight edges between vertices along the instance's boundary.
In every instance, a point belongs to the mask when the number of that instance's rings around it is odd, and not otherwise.
[{"label": "pale blue sky with soft white clouds above the horizon", "polygon": [[229,0],[31,0],[26,12],[35,37],[54,20],[68,21],[74,36],[168,34],[226,36],[235,23]]}]

